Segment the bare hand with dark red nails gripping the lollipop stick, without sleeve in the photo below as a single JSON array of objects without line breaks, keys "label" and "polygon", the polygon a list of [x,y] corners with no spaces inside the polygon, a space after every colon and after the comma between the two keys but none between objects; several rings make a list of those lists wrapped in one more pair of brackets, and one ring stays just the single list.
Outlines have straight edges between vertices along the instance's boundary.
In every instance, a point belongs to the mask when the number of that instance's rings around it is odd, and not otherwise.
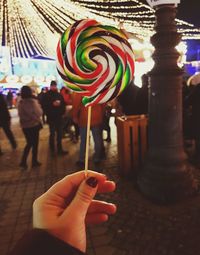
[{"label": "bare hand with dark red nails gripping the lollipop stick, without sleeve", "polygon": [[97,172],[80,171],[54,184],[33,204],[33,226],[45,229],[82,252],[86,251],[86,223],[101,223],[116,206],[94,200],[97,192],[111,192],[115,183]]}]

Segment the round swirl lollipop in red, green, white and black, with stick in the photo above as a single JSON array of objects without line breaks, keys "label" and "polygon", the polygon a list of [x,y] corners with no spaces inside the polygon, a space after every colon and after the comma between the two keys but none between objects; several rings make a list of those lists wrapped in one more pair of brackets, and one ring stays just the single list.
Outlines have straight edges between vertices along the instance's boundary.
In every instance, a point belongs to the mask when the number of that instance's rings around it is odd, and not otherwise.
[{"label": "round swirl lollipop in red, green, white and black, with stick", "polygon": [[58,42],[57,69],[65,85],[83,95],[90,123],[90,106],[117,97],[133,79],[133,51],[117,28],[80,20]]}]

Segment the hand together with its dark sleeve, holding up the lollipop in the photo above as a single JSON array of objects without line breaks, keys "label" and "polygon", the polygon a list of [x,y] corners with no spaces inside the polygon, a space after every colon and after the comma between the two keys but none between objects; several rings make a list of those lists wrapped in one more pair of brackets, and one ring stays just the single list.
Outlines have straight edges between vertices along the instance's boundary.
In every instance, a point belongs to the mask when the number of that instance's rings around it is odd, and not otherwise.
[{"label": "hand together with its dark sleeve, holding up the lollipop", "polygon": [[100,173],[66,176],[34,201],[33,229],[10,255],[85,254],[86,225],[103,223],[116,212],[114,204],[95,200],[95,194],[114,190],[115,183]]}]

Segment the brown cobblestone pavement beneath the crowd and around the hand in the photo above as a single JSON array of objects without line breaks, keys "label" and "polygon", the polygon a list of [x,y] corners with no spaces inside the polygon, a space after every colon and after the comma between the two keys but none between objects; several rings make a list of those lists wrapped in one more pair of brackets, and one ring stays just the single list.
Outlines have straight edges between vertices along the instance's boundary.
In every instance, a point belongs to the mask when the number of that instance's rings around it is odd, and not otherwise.
[{"label": "brown cobblestone pavement beneath the crowd and around the hand", "polygon": [[[32,225],[32,202],[64,175],[77,170],[79,144],[63,139],[69,155],[51,158],[48,128],[41,131],[39,169],[21,171],[18,167],[24,138],[12,111],[12,129],[18,148],[12,151],[2,130],[0,141],[0,254],[6,255]],[[200,254],[200,196],[170,206],[158,206],[145,199],[134,187],[132,178],[122,178],[117,167],[116,130],[106,144],[107,159],[100,169],[117,182],[113,194],[101,197],[117,204],[115,216],[88,229],[88,255],[196,255]],[[92,143],[91,143],[92,155]],[[90,164],[90,168],[94,169]]]}]

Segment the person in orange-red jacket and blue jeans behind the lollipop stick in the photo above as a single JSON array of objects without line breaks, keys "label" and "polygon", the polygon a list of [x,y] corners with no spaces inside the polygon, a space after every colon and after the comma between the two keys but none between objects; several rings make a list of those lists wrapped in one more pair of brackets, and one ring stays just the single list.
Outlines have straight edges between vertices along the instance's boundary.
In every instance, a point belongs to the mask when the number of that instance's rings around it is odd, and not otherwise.
[{"label": "person in orange-red jacket and blue jeans behind the lollipop stick", "polygon": [[[73,96],[73,120],[79,126],[80,132],[80,151],[79,160],[77,165],[84,166],[85,162],[85,147],[86,147],[86,134],[87,134],[87,119],[88,119],[88,107],[85,107],[82,103],[83,96],[78,93],[74,93]],[[96,104],[92,106],[91,114],[91,131],[94,140],[94,156],[93,161],[95,164],[100,163],[102,160],[102,154],[104,153],[103,137],[102,137],[102,124],[103,124],[103,112],[104,105]]]}]

